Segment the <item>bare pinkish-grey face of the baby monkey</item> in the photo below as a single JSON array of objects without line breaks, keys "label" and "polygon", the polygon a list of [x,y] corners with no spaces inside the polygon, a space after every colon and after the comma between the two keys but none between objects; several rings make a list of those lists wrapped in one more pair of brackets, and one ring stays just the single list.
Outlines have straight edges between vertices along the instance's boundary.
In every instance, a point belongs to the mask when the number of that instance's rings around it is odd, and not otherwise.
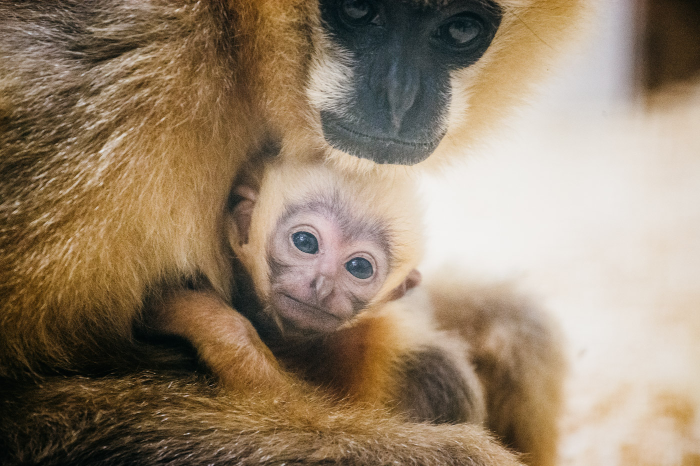
[{"label": "bare pinkish-grey face of the baby monkey", "polygon": [[330,332],[365,309],[391,263],[384,225],[360,219],[336,199],[287,209],[270,238],[269,302],[281,323]]}]

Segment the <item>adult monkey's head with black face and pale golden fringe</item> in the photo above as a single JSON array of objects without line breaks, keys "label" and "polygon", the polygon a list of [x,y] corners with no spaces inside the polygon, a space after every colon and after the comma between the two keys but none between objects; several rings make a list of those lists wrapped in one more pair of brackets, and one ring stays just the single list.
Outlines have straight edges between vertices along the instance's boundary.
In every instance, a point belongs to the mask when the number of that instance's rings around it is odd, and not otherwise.
[{"label": "adult monkey's head with black face and pale golden fringe", "polygon": [[581,0],[318,0],[307,126],[335,156],[442,159],[527,96],[581,9]]}]

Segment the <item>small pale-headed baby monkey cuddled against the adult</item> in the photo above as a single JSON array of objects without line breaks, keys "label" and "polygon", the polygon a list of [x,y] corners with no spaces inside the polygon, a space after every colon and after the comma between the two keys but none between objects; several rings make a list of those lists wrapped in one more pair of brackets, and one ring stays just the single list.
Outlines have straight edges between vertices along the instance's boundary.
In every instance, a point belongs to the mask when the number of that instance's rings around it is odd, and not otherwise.
[{"label": "small pale-headed baby monkey cuddled against the adult", "polygon": [[485,423],[526,462],[553,464],[563,358],[545,316],[514,297],[481,309],[478,289],[451,306],[435,285],[396,301],[421,281],[409,178],[377,199],[365,189],[371,176],[330,164],[277,162],[244,174],[228,219],[235,311],[212,290],[172,291],[155,309],[158,330],[193,343],[227,388],[283,395],[293,372],[337,400],[412,421]]}]

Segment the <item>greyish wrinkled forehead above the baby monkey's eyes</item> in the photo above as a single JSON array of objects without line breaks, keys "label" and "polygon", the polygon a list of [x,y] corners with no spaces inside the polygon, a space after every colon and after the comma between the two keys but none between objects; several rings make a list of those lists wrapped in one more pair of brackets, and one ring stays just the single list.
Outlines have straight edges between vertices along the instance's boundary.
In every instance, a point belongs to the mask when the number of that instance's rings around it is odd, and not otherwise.
[{"label": "greyish wrinkled forehead above the baby monkey's eyes", "polygon": [[391,260],[393,234],[387,219],[363,210],[358,203],[340,195],[338,190],[307,195],[285,206],[277,219],[275,231],[286,227],[297,216],[313,214],[337,225],[344,241],[372,241]]}]

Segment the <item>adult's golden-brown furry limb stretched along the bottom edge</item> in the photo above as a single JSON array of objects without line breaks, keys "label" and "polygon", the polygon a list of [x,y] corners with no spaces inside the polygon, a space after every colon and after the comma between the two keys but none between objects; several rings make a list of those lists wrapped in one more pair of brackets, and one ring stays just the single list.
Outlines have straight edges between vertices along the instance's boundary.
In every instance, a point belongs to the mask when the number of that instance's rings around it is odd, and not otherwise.
[{"label": "adult's golden-brown furry limb stretched along the bottom edge", "polygon": [[[282,401],[218,393],[207,382],[161,372],[3,386],[0,416],[12,432],[0,444],[4,464],[520,464],[474,425],[407,424],[312,391]],[[128,416],[108,417],[117,403]]]}]

